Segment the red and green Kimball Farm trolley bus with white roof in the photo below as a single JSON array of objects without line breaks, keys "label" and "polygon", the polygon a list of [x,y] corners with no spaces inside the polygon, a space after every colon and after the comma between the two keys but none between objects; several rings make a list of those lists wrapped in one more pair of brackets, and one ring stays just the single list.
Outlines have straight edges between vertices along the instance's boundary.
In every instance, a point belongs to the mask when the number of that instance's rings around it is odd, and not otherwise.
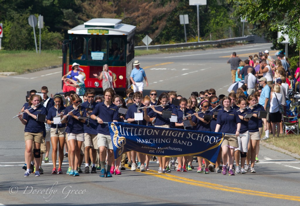
[{"label": "red and green Kimball Farm trolley bus with white roof", "polygon": [[[68,30],[69,39],[62,45],[62,75],[80,64],[85,77],[85,88],[101,92],[102,81],[93,74],[103,71],[107,64],[116,82],[116,92],[131,87],[130,74],[134,68],[135,26],[122,24],[121,19],[91,19]],[[63,87],[64,82],[62,82]]]}]

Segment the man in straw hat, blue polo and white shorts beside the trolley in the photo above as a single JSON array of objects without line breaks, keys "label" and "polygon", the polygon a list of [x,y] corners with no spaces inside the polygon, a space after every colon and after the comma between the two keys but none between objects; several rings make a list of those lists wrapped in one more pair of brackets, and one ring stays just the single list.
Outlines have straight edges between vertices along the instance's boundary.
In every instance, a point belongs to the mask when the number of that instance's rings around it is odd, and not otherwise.
[{"label": "man in straw hat, blue polo and white shorts beside the trolley", "polygon": [[148,87],[148,80],[147,80],[145,71],[143,68],[140,68],[139,60],[135,60],[133,65],[135,66],[135,68],[132,69],[131,75],[130,75],[130,80],[133,84],[133,90],[134,90],[134,92],[139,91],[140,93],[143,94],[143,89],[144,89],[143,80],[144,79],[145,79],[146,85]]}]

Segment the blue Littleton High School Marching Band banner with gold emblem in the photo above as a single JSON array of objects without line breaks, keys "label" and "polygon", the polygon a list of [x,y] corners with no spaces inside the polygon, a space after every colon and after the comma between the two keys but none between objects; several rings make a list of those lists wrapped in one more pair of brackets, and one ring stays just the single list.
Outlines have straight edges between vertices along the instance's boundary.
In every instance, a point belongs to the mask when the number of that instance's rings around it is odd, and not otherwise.
[{"label": "blue Littleton High School Marching Band banner with gold emblem", "polygon": [[109,122],[115,159],[128,151],[152,156],[199,156],[215,163],[223,133]]}]

